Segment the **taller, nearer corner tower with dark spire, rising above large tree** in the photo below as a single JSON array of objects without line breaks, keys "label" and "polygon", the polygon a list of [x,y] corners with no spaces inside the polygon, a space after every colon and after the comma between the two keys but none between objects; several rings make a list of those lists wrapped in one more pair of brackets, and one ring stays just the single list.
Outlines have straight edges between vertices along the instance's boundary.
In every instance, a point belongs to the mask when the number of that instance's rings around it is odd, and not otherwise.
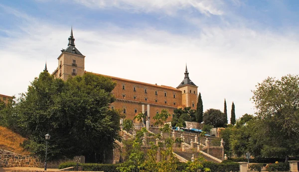
[{"label": "taller, nearer corner tower with dark spire, rising above large tree", "polygon": [[75,38],[73,36],[73,27],[71,28],[71,34],[68,38],[68,46],[66,49],[61,50],[58,59],[58,67],[54,71],[55,78],[60,78],[66,81],[69,77],[76,75],[84,75],[85,56],[75,47]]}]

